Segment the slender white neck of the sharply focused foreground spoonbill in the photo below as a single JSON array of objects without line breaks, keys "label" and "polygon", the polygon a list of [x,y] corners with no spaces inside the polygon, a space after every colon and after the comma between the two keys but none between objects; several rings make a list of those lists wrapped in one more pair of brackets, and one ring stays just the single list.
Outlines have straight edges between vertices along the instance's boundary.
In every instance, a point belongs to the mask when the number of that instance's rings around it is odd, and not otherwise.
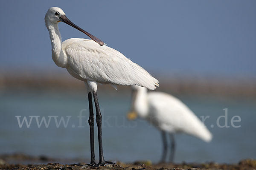
[{"label": "slender white neck of the sharply focused foreground spoonbill", "polygon": [[61,33],[58,29],[57,23],[47,24],[47,29],[49,31],[51,43],[52,43],[52,59],[58,67],[65,67],[67,62],[67,57],[63,54],[61,49]]}]

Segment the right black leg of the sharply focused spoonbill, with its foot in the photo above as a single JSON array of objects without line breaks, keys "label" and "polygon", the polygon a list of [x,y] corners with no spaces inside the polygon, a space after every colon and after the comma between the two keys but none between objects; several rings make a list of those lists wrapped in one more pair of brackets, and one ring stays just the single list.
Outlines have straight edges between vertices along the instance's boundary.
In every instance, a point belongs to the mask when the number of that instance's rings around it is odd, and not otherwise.
[{"label": "right black leg of the sharply focused spoonbill, with its foot", "polygon": [[94,103],[96,108],[96,123],[98,127],[98,140],[99,140],[99,163],[96,164],[96,166],[103,166],[105,164],[115,164],[110,161],[105,161],[104,159],[103,149],[102,149],[102,115],[100,113],[98,97],[95,91],[93,91],[93,98],[94,98]]}]

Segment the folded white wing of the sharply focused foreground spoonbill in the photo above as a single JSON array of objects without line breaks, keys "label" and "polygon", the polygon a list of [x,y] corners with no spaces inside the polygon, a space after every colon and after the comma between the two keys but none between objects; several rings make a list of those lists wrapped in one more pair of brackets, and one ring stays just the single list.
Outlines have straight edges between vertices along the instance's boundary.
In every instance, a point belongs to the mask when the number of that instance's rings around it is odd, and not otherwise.
[{"label": "folded white wing of the sharply focused foreground spoonbill", "polygon": [[[71,42],[71,43],[70,43]],[[93,40],[69,39],[62,43],[68,66],[83,79],[116,85],[139,85],[150,90],[158,81],[119,51]]]}]

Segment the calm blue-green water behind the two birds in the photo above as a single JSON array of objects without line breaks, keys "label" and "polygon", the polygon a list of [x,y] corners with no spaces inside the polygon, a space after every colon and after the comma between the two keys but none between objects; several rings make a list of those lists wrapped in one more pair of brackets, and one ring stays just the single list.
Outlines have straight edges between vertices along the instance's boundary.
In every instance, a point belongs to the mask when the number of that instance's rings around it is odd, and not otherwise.
[{"label": "calm blue-green water behind the two birds", "polygon": [[[103,148],[105,159],[131,162],[148,160],[157,162],[162,153],[160,133],[147,122],[137,119],[129,122],[125,115],[129,110],[130,95],[99,92],[99,102],[103,115]],[[179,96],[197,116],[210,116],[205,124],[213,133],[212,142],[205,143],[192,136],[175,135],[177,142],[176,162],[217,161],[236,163],[241,159],[256,159],[256,99],[220,99],[211,96]],[[224,116],[223,109],[228,108],[227,125],[217,126],[219,116]],[[46,155],[58,158],[90,158],[90,139],[87,94],[84,93],[45,93],[45,92],[5,92],[0,95],[0,154],[26,153]],[[86,116],[79,125],[79,113]],[[233,116],[240,116],[241,122],[230,122]],[[44,123],[38,128],[35,117],[30,127],[24,122],[20,128],[15,116],[58,116],[59,122],[64,116],[71,116],[67,127],[63,123],[57,128],[52,117],[49,127]],[[235,120],[237,120],[236,118]],[[224,125],[224,118],[220,125]],[[212,126],[213,127],[212,127]],[[79,127],[84,126],[84,127]],[[96,128],[95,128],[96,130]],[[96,134],[95,134],[96,137]],[[97,138],[95,138],[97,141]],[[96,143],[96,158],[98,147]]]}]

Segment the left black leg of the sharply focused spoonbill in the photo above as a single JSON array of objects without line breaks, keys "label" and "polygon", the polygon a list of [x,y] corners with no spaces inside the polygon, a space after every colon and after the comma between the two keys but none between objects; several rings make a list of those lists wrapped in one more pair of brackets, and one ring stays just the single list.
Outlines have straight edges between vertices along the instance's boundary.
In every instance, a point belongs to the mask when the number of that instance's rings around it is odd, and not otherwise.
[{"label": "left black leg of the sharply focused spoonbill", "polygon": [[95,154],[94,154],[94,115],[93,115],[93,100],[92,100],[92,92],[88,93],[88,100],[89,100],[89,119],[88,119],[88,123],[90,126],[90,156],[91,156],[91,160],[90,160],[90,164],[88,164],[89,166],[94,166],[96,165],[95,162]]}]

